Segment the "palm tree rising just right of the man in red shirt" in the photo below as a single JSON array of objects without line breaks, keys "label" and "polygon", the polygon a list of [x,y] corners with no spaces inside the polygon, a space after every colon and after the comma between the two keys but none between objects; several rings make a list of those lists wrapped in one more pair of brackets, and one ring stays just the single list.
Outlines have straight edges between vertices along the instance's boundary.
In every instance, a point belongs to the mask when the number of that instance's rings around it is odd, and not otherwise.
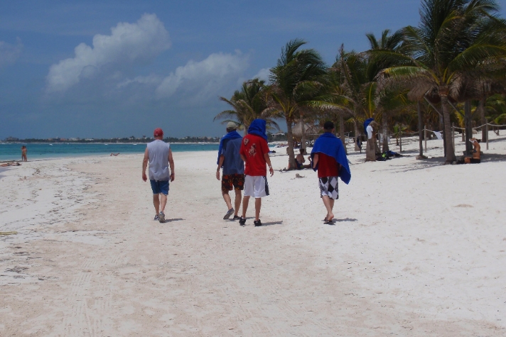
[{"label": "palm tree rising just right of the man in red shirt", "polygon": [[321,94],[321,77],[327,69],[316,50],[299,50],[305,44],[301,39],[286,43],[269,77],[269,106],[286,120],[290,167],[296,167],[292,123],[301,118],[301,112],[309,111],[315,97]]}]

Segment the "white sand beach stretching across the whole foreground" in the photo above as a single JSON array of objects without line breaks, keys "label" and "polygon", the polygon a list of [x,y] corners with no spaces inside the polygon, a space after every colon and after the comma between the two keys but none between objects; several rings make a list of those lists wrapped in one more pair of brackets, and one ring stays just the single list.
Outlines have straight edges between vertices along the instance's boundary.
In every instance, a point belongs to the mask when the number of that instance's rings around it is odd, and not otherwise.
[{"label": "white sand beach stretching across the whole foreground", "polygon": [[0,336],[506,336],[506,136],[490,138],[479,165],[441,165],[441,140],[429,160],[348,145],[333,226],[286,155],[259,228],[222,220],[214,152],[174,153],[163,224],[142,155],[10,167]]}]

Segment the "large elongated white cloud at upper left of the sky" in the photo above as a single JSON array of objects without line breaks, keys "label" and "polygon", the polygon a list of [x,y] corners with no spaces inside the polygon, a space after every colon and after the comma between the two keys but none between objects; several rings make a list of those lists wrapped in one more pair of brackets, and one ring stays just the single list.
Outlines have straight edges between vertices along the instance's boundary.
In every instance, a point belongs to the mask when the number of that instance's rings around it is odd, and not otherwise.
[{"label": "large elongated white cloud at upper left of the sky", "polygon": [[46,91],[64,92],[81,79],[153,60],[170,46],[168,31],[155,14],[144,14],[136,23],[118,23],[111,35],[95,35],[92,47],[81,43],[75,57],[52,65]]}]

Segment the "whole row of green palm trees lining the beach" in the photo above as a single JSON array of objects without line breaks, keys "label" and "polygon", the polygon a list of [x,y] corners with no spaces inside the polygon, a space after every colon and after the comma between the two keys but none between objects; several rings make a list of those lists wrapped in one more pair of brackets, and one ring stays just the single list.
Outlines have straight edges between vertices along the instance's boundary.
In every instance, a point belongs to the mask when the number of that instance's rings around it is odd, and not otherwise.
[{"label": "whole row of green palm trees lining the beach", "polygon": [[[247,126],[254,118],[283,118],[292,140],[296,123],[304,130],[330,119],[344,139],[346,129],[357,137],[362,122],[373,117],[383,135],[397,138],[419,128],[419,106],[422,123],[443,130],[446,162],[453,162],[452,123],[469,130],[469,123],[479,126],[485,118],[506,122],[506,21],[498,9],[495,0],[422,0],[418,26],[385,30],[381,38],[367,34],[370,49],[360,53],[342,45],[331,67],[316,50],[301,49],[305,41],[291,40],[271,68],[270,83],[252,79],[232,99],[220,97],[234,110],[215,119]],[[465,102],[468,119],[456,111]],[[303,146],[304,137],[298,139]]]}]

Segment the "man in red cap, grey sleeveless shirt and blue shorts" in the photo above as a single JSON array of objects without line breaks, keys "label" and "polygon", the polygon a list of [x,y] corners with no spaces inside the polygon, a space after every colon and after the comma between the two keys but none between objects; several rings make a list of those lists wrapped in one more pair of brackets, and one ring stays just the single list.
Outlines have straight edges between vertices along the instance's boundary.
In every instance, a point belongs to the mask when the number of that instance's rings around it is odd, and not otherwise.
[{"label": "man in red cap, grey sleeveless shirt and blue shorts", "polygon": [[[153,204],[155,206],[155,220],[160,223],[165,222],[165,206],[167,204],[168,181],[174,181],[174,160],[172,158],[171,145],[163,141],[163,131],[156,128],[154,138],[148,143],[144,151],[144,160],[142,161],[142,179],[146,182],[146,167],[149,162],[149,182],[153,190]],[[168,166],[171,166],[169,173]]]}]

